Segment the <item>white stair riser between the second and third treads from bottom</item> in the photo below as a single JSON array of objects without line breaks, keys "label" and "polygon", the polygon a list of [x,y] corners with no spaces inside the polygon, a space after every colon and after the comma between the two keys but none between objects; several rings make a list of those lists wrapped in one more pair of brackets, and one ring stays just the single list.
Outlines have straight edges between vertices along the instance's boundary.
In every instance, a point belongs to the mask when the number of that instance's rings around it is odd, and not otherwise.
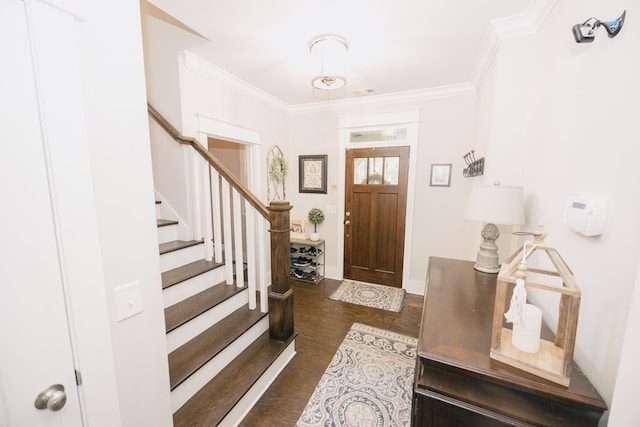
[{"label": "white stair riser between the second and third treads from bottom", "polygon": [[[234,285],[221,285],[234,286]],[[206,329],[218,323],[243,305],[249,302],[248,292],[241,292],[207,310],[195,319],[167,334],[167,353],[187,343],[192,338],[204,332]]]}]

